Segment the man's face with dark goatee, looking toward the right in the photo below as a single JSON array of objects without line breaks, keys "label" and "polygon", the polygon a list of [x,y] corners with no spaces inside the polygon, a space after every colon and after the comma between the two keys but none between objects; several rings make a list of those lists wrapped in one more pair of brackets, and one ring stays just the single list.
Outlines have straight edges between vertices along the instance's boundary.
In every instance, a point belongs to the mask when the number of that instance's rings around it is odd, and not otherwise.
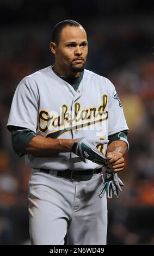
[{"label": "man's face with dark goatee, looking toward the right", "polygon": [[87,35],[82,27],[64,27],[55,53],[57,64],[69,72],[83,71],[88,54],[87,44]]}]

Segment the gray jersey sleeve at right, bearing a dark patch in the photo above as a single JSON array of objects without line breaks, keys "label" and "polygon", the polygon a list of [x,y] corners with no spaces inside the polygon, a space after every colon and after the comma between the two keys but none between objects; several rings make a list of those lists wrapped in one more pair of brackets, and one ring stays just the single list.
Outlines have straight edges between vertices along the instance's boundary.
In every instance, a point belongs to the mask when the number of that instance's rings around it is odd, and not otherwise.
[{"label": "gray jersey sleeve at right, bearing a dark patch", "polygon": [[116,93],[114,85],[110,82],[109,85],[109,101],[108,101],[108,136],[116,132],[129,130],[124,111]]}]

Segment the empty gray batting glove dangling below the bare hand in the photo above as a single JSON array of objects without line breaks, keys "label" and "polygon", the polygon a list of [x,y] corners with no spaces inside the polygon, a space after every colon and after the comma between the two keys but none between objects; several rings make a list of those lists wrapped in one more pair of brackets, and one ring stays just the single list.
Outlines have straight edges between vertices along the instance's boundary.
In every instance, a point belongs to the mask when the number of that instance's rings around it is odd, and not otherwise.
[{"label": "empty gray batting glove dangling below the bare hand", "polygon": [[112,199],[112,193],[116,198],[119,198],[119,191],[122,192],[121,186],[124,186],[124,184],[118,177],[118,174],[114,172],[109,166],[106,166],[105,168],[106,179],[101,186],[101,190],[98,192],[98,196],[102,198],[106,192],[109,199]]}]

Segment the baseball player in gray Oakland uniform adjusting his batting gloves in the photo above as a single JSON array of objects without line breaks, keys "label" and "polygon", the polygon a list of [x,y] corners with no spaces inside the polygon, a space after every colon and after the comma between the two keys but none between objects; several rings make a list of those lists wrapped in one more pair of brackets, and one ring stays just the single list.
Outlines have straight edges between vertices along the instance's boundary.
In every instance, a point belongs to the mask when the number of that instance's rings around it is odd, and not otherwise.
[{"label": "baseball player in gray Oakland uniform adjusting his batting gloves", "polygon": [[64,245],[67,234],[67,245],[106,245],[107,197],[118,197],[128,150],[121,102],[107,78],[84,69],[88,41],[78,22],[59,22],[50,48],[54,65],[19,83],[7,124],[32,168],[30,239]]}]

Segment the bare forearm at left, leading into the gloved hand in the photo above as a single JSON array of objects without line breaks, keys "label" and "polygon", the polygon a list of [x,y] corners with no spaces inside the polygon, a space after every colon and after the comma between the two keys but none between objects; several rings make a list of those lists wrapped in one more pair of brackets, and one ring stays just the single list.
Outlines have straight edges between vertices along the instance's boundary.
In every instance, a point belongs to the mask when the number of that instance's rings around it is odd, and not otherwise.
[{"label": "bare forearm at left, leading into the gloved hand", "polygon": [[51,139],[37,135],[29,142],[24,154],[51,155],[52,153],[71,152],[76,139]]}]

